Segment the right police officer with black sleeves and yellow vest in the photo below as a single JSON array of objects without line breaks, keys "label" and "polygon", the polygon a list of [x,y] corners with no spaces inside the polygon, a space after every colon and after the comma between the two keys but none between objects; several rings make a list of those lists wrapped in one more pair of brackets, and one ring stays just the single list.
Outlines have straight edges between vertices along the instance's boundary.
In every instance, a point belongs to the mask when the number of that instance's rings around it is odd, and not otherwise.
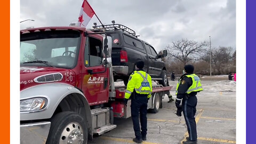
[{"label": "right police officer with black sleeves and yellow vest", "polygon": [[[197,143],[196,131],[196,105],[197,105],[197,92],[203,90],[200,79],[194,73],[194,66],[186,65],[183,70],[183,75],[177,84],[175,105],[177,107],[177,116],[181,116],[181,111],[185,117],[189,137],[183,143],[194,144]],[[182,106],[180,106],[182,100]]]}]

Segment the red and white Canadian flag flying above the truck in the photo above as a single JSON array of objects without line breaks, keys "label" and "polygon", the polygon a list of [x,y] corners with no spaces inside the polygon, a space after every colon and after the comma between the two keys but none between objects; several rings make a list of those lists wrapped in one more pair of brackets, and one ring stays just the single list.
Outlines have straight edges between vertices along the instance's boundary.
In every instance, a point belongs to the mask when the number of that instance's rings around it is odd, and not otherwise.
[{"label": "red and white Canadian flag flying above the truck", "polygon": [[90,4],[84,0],[81,11],[78,17],[78,23],[80,27],[86,27],[95,12],[93,11]]}]

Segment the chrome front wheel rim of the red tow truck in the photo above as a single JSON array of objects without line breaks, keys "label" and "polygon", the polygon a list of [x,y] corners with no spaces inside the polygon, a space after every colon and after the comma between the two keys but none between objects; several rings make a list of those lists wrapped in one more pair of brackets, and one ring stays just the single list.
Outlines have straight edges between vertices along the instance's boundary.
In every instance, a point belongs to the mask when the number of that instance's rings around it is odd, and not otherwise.
[{"label": "chrome front wheel rim of the red tow truck", "polygon": [[76,122],[69,123],[60,135],[59,144],[82,144],[84,141],[83,128]]}]

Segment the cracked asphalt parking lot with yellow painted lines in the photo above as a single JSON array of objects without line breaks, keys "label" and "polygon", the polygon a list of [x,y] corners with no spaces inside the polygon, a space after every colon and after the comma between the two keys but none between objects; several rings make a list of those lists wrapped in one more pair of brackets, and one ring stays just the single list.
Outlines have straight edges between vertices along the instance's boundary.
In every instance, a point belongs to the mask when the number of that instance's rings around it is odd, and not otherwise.
[{"label": "cracked asphalt parking lot with yellow painted lines", "polygon": [[[221,83],[221,84],[220,84]],[[204,91],[197,94],[197,143],[236,143],[236,91],[229,90],[227,81],[202,80]],[[170,81],[174,86],[177,82]],[[226,89],[218,88],[223,85]],[[216,87],[210,89],[210,87]],[[222,88],[223,88],[222,86]],[[175,86],[171,94],[175,95]],[[175,97],[174,97],[175,98]],[[147,141],[142,143],[164,144],[181,143],[188,135],[185,120],[175,115],[175,103],[163,99],[163,108],[157,114],[148,113]],[[117,128],[100,136],[95,136],[88,143],[135,143],[132,119],[115,118]]]}]

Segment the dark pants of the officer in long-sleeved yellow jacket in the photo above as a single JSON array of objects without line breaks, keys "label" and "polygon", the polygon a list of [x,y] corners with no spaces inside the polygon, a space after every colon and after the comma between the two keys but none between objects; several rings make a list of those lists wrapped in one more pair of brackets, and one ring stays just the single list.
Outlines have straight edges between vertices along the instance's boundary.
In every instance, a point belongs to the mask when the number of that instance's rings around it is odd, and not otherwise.
[{"label": "dark pants of the officer in long-sleeved yellow jacket", "polygon": [[[148,98],[147,96],[135,96],[131,101],[131,114],[133,122],[133,130],[135,137],[141,139],[142,135],[146,136],[147,134],[147,107],[148,107]],[[140,116],[140,122],[139,122]],[[141,130],[140,130],[141,125]]]}]

